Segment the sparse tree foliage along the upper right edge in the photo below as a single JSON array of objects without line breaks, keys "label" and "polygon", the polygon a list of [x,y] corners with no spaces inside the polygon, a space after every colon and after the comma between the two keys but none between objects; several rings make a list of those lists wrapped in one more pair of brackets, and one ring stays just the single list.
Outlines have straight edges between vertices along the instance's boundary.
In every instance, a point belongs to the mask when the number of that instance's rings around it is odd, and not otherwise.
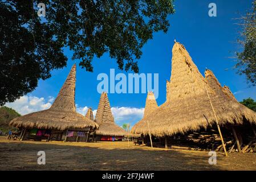
[{"label": "sparse tree foliage along the upper right edge", "polygon": [[242,18],[242,35],[238,40],[243,51],[237,53],[239,74],[245,74],[247,81],[256,85],[256,0],[252,9]]}]

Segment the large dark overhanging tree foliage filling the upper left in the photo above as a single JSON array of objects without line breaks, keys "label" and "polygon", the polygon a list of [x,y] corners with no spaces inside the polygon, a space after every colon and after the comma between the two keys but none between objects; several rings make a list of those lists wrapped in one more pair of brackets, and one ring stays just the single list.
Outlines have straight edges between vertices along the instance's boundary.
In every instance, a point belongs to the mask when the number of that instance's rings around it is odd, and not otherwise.
[{"label": "large dark overhanging tree foliage filling the upper left", "polygon": [[[44,18],[37,15],[38,3],[46,5]],[[1,0],[0,105],[66,66],[64,47],[86,71],[107,52],[119,69],[139,72],[141,48],[153,32],[168,30],[173,13],[173,0]]]}]

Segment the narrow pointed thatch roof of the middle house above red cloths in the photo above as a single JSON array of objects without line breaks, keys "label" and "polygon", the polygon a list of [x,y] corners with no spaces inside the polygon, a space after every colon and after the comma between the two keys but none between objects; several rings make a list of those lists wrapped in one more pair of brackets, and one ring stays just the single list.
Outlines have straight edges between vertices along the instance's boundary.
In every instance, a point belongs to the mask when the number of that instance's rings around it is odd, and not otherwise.
[{"label": "narrow pointed thatch roof of the middle house above red cloths", "polygon": [[107,93],[103,92],[95,116],[95,122],[99,125],[97,135],[124,136],[128,135],[124,129],[115,124]]}]

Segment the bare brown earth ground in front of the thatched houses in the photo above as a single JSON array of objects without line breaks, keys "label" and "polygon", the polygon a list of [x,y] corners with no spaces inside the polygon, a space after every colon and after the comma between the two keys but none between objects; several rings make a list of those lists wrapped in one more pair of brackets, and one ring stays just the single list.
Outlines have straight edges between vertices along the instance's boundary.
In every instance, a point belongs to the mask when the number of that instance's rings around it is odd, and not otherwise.
[{"label": "bare brown earth ground in front of the thatched houses", "polygon": [[[46,165],[37,164],[37,152],[46,152]],[[130,142],[34,142],[0,137],[0,170],[256,170],[256,154],[217,154],[164,150]]]}]

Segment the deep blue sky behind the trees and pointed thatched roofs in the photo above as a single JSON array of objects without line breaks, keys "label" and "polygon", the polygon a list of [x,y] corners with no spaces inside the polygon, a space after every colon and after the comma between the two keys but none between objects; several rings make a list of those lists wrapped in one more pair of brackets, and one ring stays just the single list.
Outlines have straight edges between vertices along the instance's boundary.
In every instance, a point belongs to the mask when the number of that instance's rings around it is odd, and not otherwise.
[{"label": "deep blue sky behind the trees and pointed thatched roofs", "polygon": [[[217,5],[217,17],[209,17],[208,5]],[[239,26],[234,18],[245,14],[251,7],[251,1],[242,0],[182,0],[175,1],[176,13],[168,17],[170,28],[167,34],[157,32],[153,39],[143,47],[143,56],[139,61],[140,73],[159,73],[159,97],[157,104],[165,101],[165,84],[170,79],[173,40],[184,44],[194,63],[202,74],[205,68],[211,69],[222,85],[230,87],[238,101],[251,97],[256,100],[256,87],[249,87],[245,76],[239,76],[233,69],[235,62],[230,57],[238,51],[236,43]],[[68,57],[66,68],[52,71],[52,77],[39,81],[38,87],[30,94],[12,104],[7,104],[22,114],[45,109],[52,103],[65,81],[72,64],[72,52],[64,50]],[[79,63],[79,60],[76,60]],[[106,53],[100,59],[94,59],[94,73],[77,69],[75,102],[80,113],[87,107],[97,109],[100,93],[97,93],[97,75],[107,73],[109,69],[118,70],[116,61]],[[132,72],[128,72],[132,73]],[[127,74],[127,73],[125,73]],[[139,121],[143,115],[147,94],[108,94],[117,124]],[[32,101],[32,104],[31,104]],[[22,103],[22,104],[21,104]],[[33,105],[34,104],[34,105]],[[43,106],[42,106],[43,105]]]}]

